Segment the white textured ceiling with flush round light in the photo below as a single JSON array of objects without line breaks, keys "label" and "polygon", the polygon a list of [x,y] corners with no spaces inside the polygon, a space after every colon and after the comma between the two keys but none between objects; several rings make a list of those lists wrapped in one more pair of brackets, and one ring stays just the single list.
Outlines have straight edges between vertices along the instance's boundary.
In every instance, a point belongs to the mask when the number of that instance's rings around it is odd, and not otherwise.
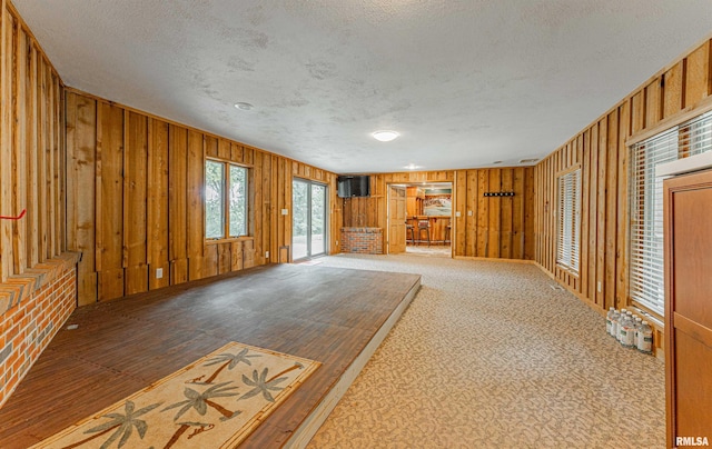
[{"label": "white textured ceiling with flush round light", "polygon": [[14,3],[68,86],[339,173],[543,157],[712,31],[710,0]]}]

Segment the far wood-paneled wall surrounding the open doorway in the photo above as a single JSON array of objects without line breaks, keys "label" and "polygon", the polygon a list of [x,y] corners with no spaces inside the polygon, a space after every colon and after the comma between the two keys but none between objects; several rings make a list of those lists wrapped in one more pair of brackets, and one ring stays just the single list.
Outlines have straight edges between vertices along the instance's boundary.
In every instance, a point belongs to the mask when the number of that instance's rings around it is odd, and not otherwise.
[{"label": "far wood-paneled wall surrounding the open doorway", "polygon": [[[452,182],[453,212],[461,212],[454,219],[452,235],[455,256],[534,257],[533,168],[379,173],[372,174],[370,182],[370,197],[342,200],[344,226],[387,229],[389,183]],[[514,191],[515,196],[483,197],[484,192],[498,191]]]}]

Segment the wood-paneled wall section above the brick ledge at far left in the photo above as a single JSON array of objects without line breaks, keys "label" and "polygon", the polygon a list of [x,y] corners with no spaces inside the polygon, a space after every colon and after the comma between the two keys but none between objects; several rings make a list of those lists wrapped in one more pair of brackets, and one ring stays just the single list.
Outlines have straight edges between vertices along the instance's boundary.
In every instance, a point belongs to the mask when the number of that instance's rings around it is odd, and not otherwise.
[{"label": "wood-paneled wall section above the brick ledge at far left", "polygon": [[14,8],[0,11],[0,283],[65,251],[62,82]]}]

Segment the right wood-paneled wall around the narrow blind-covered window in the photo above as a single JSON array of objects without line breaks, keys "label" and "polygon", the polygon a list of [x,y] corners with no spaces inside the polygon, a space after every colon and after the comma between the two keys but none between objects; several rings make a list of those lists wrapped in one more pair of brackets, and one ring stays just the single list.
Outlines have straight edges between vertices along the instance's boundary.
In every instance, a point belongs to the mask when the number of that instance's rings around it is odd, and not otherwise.
[{"label": "right wood-paneled wall around the narrow blind-covered window", "polygon": [[[599,311],[629,305],[629,149],[626,141],[663,131],[709,109],[710,41],[661,70],[535,169],[535,260]],[[556,266],[556,178],[582,169],[581,267]]]}]

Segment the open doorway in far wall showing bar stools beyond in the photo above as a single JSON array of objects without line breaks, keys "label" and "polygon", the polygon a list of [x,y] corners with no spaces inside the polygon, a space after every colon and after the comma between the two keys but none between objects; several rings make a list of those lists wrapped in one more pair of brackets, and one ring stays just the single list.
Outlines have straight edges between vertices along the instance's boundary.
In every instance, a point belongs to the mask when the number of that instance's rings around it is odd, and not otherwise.
[{"label": "open doorway in far wall showing bar stools beyond", "polygon": [[[405,193],[405,217],[400,213],[399,192]],[[452,182],[389,184],[388,252],[452,257]]]}]

